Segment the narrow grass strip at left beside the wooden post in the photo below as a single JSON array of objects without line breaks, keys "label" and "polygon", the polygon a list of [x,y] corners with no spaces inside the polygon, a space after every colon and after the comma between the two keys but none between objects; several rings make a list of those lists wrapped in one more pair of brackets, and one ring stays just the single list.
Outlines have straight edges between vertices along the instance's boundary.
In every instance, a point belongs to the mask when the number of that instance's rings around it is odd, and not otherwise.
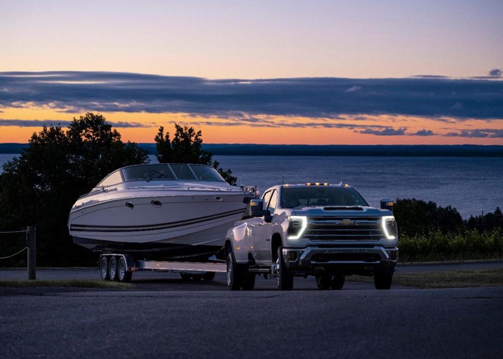
[{"label": "narrow grass strip at left beside the wooden post", "polygon": [[108,288],[134,289],[130,283],[103,281],[93,279],[59,279],[59,280],[0,280],[0,287],[28,288],[28,287],[73,287],[73,288]]}]

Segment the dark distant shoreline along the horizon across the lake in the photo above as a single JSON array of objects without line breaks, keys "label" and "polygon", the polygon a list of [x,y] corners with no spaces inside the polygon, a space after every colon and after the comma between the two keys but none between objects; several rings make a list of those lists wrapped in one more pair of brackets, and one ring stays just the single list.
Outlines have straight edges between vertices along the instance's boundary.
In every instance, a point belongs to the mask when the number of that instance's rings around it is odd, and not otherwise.
[{"label": "dark distant shoreline along the horizon across the lake", "polygon": [[[0,154],[20,154],[25,143],[0,143]],[[150,155],[154,143],[139,143]],[[503,145],[265,145],[203,144],[217,156],[503,157]]]}]

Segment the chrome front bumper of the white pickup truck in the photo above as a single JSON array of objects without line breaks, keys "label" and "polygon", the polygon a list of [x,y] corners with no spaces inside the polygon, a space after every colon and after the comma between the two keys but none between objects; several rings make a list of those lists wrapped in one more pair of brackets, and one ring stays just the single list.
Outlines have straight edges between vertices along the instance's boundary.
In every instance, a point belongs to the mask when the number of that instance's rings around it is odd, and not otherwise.
[{"label": "chrome front bumper of the white pickup truck", "polygon": [[398,248],[381,245],[352,247],[283,248],[283,258],[288,272],[316,274],[324,271],[345,275],[371,275],[375,271],[395,271]]}]

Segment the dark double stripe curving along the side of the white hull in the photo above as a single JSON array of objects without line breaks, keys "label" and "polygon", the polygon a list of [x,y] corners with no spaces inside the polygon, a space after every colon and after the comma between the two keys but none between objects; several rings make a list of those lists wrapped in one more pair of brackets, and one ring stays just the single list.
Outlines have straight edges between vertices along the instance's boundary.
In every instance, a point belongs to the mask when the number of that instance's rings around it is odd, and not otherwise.
[{"label": "dark double stripe curving along the side of the white hull", "polygon": [[211,221],[214,219],[220,219],[230,216],[235,216],[238,214],[243,214],[244,209],[235,210],[229,212],[223,212],[216,215],[199,217],[187,219],[179,222],[168,222],[168,223],[160,223],[160,224],[152,224],[152,225],[123,225],[123,226],[114,226],[114,225],[84,225],[84,224],[71,224],[70,231],[75,232],[137,232],[137,231],[156,231],[163,230],[169,228],[176,228],[183,225],[202,223],[206,221]]}]

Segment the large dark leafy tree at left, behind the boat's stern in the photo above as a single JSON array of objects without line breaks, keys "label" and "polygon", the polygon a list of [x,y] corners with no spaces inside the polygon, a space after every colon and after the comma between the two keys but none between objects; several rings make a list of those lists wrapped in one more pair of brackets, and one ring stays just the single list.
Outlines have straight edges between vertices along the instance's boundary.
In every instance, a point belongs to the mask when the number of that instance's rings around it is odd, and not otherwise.
[{"label": "large dark leafy tree at left, behind the boat's stern", "polygon": [[147,162],[145,150],[122,142],[101,115],[88,112],[73,119],[66,131],[44,126],[20,157],[4,164],[0,226],[36,225],[40,265],[90,264],[94,256],[68,236],[71,206],[115,169]]}]

